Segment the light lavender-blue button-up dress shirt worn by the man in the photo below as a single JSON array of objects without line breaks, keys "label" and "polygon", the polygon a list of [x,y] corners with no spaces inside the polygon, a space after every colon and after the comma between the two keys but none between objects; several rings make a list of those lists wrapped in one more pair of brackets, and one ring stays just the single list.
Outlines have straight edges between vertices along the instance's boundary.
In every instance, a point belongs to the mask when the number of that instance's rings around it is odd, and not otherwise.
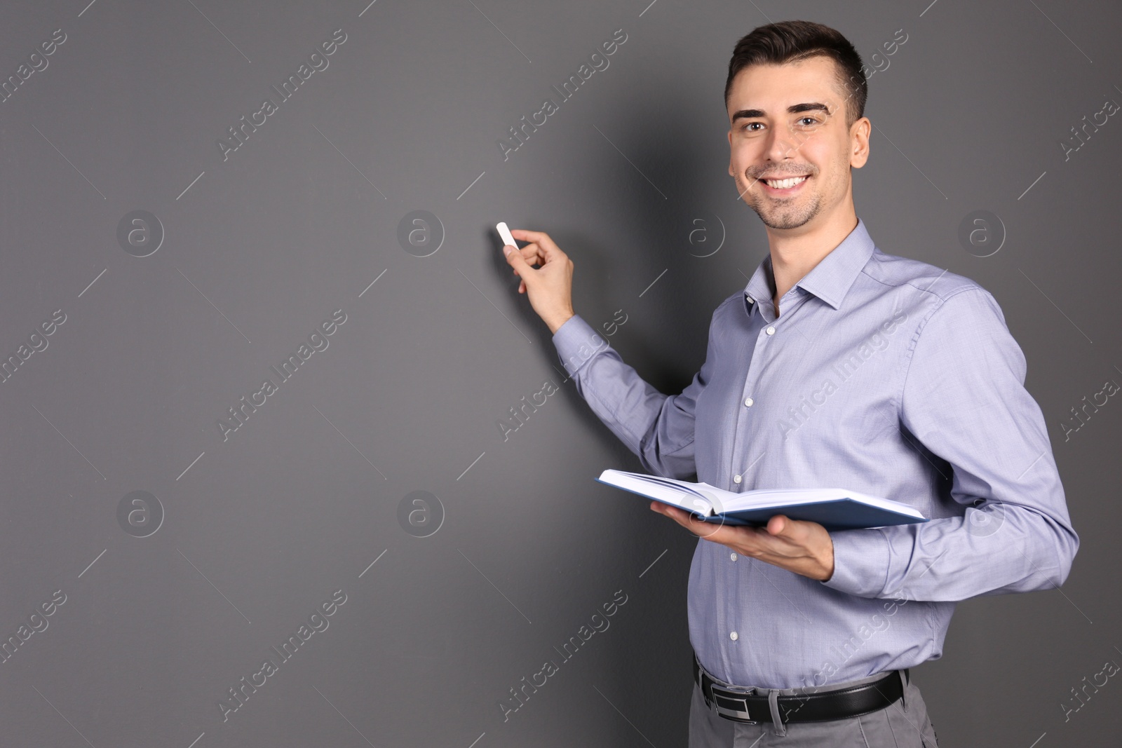
[{"label": "light lavender-blue button-up dress shirt worn by the man", "polygon": [[651,473],[730,491],[845,488],[930,518],[830,533],[826,582],[699,538],[688,608],[701,664],[767,689],[863,678],[940,657],[958,600],[1063,584],[1079,538],[993,296],[885,255],[859,220],[778,317],[773,284],[769,257],[717,307],[680,395],[646,384],[580,316],[553,335],[578,391]]}]

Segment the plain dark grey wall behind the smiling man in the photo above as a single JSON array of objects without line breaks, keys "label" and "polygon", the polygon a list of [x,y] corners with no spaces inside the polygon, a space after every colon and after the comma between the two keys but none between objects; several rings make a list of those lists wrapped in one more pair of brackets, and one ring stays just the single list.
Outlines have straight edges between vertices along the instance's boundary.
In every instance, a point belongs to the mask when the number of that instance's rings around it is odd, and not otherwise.
[{"label": "plain dark grey wall behind the smiling man", "polygon": [[[1061,424],[1122,382],[1122,123],[1067,160],[1059,142],[1122,101],[1122,24],[1055,0],[6,2],[0,77],[66,40],[0,103],[0,355],[66,322],[0,385],[0,636],[66,601],[0,664],[0,742],[684,745],[695,541],[594,481],[638,462],[564,381],[491,227],[550,232],[578,313],[623,310],[609,342],[680,391],[767,250],[726,173],[728,56],[793,18],[866,61],[908,35],[870,79],[858,215],[884,251],[996,296],[1082,538],[1063,590],[960,604],[913,671],[940,745],[1112,745],[1116,678],[1067,721],[1061,703],[1122,663],[1122,405],[1067,441]],[[329,67],[223,161],[227,128],[340,28]],[[616,29],[609,67],[504,160],[507,128]],[[117,241],[134,210],[166,232],[148,257]],[[427,257],[397,241],[415,210],[445,234]],[[957,239],[976,210],[1008,234],[985,258]],[[697,257],[693,220],[715,240],[714,216],[725,241]],[[218,418],[337,308],[329,348],[223,442]],[[118,521],[138,490],[165,514],[147,537]],[[423,538],[398,521],[417,490],[444,512]],[[330,627],[223,722],[218,701],[339,589]],[[561,663],[617,590],[610,628]]]}]

